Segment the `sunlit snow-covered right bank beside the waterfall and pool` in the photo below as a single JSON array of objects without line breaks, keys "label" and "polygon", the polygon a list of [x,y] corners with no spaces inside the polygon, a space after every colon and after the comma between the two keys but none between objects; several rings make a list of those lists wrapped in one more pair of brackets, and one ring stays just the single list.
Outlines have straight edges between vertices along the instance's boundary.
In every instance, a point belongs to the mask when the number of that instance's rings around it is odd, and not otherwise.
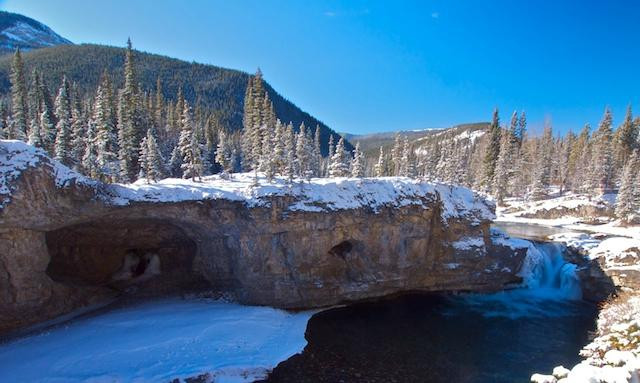
[{"label": "sunlit snow-covered right bank beside the waterfall and pool", "polygon": [[[553,210],[557,206],[576,207],[584,203],[590,202],[552,199],[538,205],[544,206],[543,210]],[[532,209],[523,210],[529,212]],[[498,209],[495,221],[564,229],[566,232],[550,235],[549,239],[599,261],[606,271],[622,272],[623,275],[640,272],[640,226],[623,226],[606,218],[596,219],[595,222],[604,222],[597,224],[585,223],[582,218],[574,216],[527,218],[521,216],[523,210]],[[640,380],[640,297],[637,291],[619,287],[627,292],[603,306],[598,316],[596,337],[580,352],[585,360],[570,369],[557,366],[551,375],[534,374],[532,382],[627,383]]]}]

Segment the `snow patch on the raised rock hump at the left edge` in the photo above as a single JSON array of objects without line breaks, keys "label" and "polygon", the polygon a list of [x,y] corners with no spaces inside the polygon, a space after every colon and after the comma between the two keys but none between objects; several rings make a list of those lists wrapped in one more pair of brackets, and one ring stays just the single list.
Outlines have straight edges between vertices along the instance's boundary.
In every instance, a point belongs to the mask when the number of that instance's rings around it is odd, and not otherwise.
[{"label": "snow patch on the raised rock hump at the left edge", "polygon": [[42,149],[18,140],[0,140],[0,208],[11,200],[14,181],[22,172],[40,165],[50,169],[58,187],[66,187],[73,183],[97,184],[96,181],[49,158]]}]

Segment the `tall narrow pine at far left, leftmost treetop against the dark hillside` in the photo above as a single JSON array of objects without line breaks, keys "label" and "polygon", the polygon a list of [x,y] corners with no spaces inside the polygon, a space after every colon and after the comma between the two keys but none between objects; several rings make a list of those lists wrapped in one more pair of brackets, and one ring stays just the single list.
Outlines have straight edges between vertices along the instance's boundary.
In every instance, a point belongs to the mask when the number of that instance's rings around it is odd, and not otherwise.
[{"label": "tall narrow pine at far left, leftmost treetop against the dark hillside", "polygon": [[29,110],[27,107],[27,90],[24,79],[24,64],[20,48],[16,49],[13,55],[11,66],[11,129],[9,138],[16,140],[27,140],[27,118]]}]

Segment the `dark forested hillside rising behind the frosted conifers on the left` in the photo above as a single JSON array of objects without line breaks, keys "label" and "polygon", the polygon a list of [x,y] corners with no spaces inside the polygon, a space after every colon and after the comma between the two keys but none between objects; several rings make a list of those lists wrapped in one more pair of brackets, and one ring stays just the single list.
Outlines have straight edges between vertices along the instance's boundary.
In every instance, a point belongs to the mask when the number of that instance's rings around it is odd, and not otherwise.
[{"label": "dark forested hillside rising behind the frosted conifers on the left", "polygon": [[[125,48],[103,45],[60,45],[23,52],[22,57],[26,79],[37,69],[42,74],[44,84],[51,93],[55,93],[64,75],[71,84],[75,84],[80,97],[85,98],[95,93],[105,71],[114,88],[123,86],[125,52]],[[230,131],[242,129],[243,102],[249,74],[139,51],[134,51],[134,55],[134,71],[141,90],[155,92],[157,80],[160,79],[162,95],[166,100],[177,100],[181,88],[185,100],[194,107],[215,113],[222,127]],[[12,59],[12,55],[0,57],[2,95],[10,92]],[[265,89],[273,102],[276,116],[282,122],[292,122],[296,129],[302,122],[307,127],[320,126],[322,152],[326,155],[329,135],[337,134],[282,97],[266,82]],[[345,145],[347,149],[352,149],[349,142]]]}]

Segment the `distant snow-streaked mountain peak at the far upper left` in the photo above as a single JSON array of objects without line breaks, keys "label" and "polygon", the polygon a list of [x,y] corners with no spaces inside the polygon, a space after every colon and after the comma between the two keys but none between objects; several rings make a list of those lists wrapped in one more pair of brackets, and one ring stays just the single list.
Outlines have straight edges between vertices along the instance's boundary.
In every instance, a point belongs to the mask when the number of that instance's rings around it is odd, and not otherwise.
[{"label": "distant snow-streaked mountain peak at the far upper left", "polygon": [[39,21],[17,13],[0,11],[0,54],[72,44]]}]

